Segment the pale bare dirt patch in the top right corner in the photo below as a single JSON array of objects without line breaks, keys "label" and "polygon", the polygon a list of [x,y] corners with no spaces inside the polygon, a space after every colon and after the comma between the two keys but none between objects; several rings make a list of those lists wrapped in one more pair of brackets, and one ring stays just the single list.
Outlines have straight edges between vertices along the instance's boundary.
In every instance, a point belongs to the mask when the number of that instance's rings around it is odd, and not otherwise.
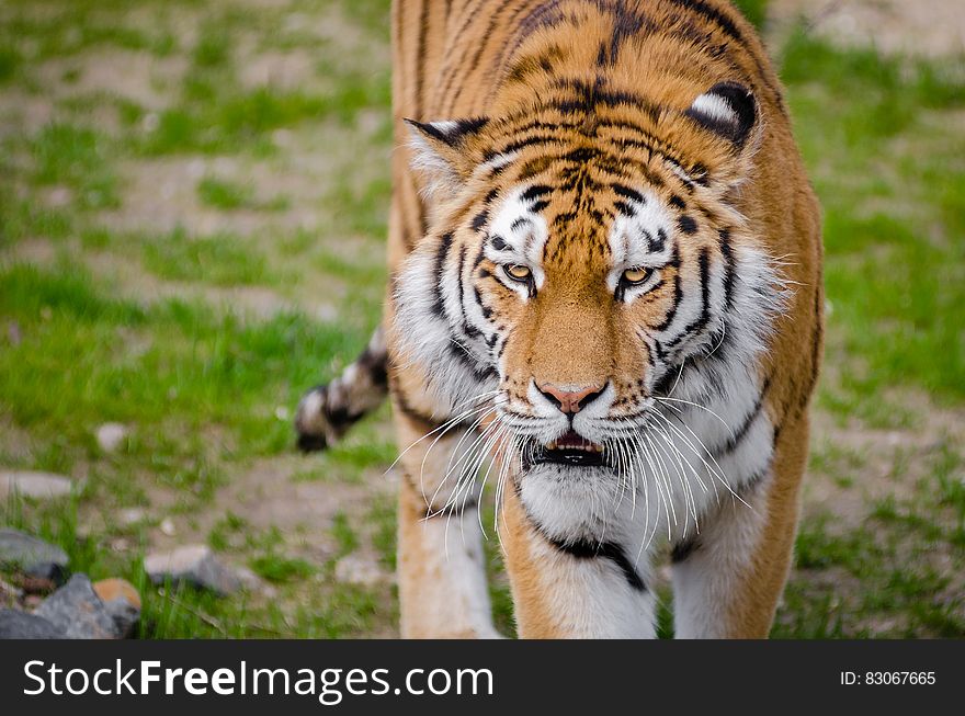
[{"label": "pale bare dirt patch in the top right corner", "polygon": [[769,15],[774,38],[804,18],[811,32],[844,45],[929,57],[965,52],[962,0],[772,0]]}]

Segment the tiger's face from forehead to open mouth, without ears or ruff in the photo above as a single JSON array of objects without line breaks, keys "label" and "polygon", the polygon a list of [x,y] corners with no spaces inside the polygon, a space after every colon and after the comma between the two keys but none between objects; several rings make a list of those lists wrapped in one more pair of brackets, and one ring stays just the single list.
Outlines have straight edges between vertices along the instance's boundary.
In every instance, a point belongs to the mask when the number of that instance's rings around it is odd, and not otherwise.
[{"label": "tiger's face from forehead to open mouth, without ears or ruff", "polygon": [[670,353],[695,350],[715,325],[707,316],[705,334],[669,344],[678,291],[700,280],[699,255],[711,250],[680,241],[685,209],[643,180],[605,177],[592,157],[554,171],[576,169],[592,192],[544,178],[493,202],[476,239],[481,261],[465,277],[496,327],[501,417],[526,443],[527,468],[606,466],[604,446],[647,420]]}]

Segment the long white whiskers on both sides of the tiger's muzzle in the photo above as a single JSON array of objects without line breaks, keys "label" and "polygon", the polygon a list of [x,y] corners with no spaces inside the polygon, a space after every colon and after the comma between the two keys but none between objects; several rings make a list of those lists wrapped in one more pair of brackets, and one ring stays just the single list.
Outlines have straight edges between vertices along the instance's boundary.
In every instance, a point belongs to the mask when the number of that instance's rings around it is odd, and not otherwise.
[{"label": "long white whiskers on both sides of the tiger's muzzle", "polygon": [[[507,489],[533,469],[542,450],[536,437],[542,421],[515,413],[507,404],[499,390],[474,396],[462,410],[416,440],[399,456],[401,459],[423,441],[431,441],[421,455],[418,484],[427,505],[423,519],[445,518],[446,552],[453,518],[465,542],[466,510],[481,502],[488,486],[495,491],[491,526],[500,547],[503,546],[500,527],[506,523]],[[734,429],[711,408],[670,396],[655,396],[633,416],[600,420],[604,470],[586,478],[582,522],[595,525],[594,541],[602,542],[603,534],[610,534],[616,526],[623,535],[639,536],[639,559],[658,537],[672,541],[700,534],[702,514],[708,503],[719,503],[729,496],[753,509],[735,490],[705,443],[703,431],[699,434],[695,425],[689,424],[688,418],[697,410],[709,414],[727,434],[734,435]],[[461,434],[445,443],[447,457],[430,463],[433,450],[453,435],[453,430]],[[719,435],[725,431],[716,432]],[[564,478],[568,488],[578,489],[579,480],[584,479],[577,474]],[[480,533],[488,539],[481,509],[477,510],[476,519]]]}]

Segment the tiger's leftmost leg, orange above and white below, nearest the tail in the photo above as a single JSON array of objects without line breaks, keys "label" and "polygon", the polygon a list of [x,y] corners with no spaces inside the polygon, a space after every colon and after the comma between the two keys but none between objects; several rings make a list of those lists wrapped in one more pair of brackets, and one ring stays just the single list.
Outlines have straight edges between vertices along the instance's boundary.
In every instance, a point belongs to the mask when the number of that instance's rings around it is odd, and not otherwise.
[{"label": "tiger's leftmost leg, orange above and white below, nearest the tail", "polygon": [[[424,398],[422,398],[424,400]],[[401,479],[398,582],[405,638],[495,638],[474,456],[474,420],[446,430],[394,386]],[[424,412],[423,412],[424,411]],[[476,413],[474,413],[476,414]],[[472,463],[472,464],[470,464]],[[464,479],[459,480],[459,476]]]}]

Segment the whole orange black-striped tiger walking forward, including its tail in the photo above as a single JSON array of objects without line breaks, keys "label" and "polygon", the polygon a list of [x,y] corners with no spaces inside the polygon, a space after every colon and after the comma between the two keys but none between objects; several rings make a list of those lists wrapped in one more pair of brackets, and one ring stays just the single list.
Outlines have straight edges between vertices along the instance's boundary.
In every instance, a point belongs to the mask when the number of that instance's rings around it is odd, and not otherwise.
[{"label": "whole orange black-striped tiger walking forward, including its tail", "polygon": [[656,637],[660,578],[677,638],[767,637],[824,297],[756,30],[724,0],[395,0],[391,42],[383,321],[295,422],[322,448],[390,399],[401,636],[500,636],[489,485],[520,637]]}]

